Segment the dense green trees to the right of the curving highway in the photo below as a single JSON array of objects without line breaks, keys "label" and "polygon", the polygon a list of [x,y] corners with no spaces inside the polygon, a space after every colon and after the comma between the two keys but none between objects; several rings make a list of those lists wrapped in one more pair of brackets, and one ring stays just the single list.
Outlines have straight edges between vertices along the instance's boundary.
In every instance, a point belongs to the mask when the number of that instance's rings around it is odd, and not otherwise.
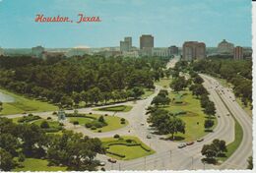
[{"label": "dense green trees to the right of the curving highway", "polygon": [[191,63],[196,72],[223,78],[231,83],[236,96],[241,97],[245,106],[252,103],[252,61],[230,59],[206,59]]}]

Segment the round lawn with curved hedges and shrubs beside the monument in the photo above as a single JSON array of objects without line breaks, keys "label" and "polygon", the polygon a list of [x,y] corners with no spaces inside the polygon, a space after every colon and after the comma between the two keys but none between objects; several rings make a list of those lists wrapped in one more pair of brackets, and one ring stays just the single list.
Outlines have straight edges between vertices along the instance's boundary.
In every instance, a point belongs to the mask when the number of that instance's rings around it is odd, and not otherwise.
[{"label": "round lawn with curved hedges and shrubs beside the monument", "polygon": [[[92,115],[88,115],[88,116],[95,117],[96,119],[98,119],[98,117],[100,115],[92,114]],[[94,119],[86,118],[86,117],[85,118],[84,117],[69,117],[68,119],[70,122],[78,121],[81,126],[85,126],[86,123],[90,123],[90,122],[94,121]],[[125,121],[125,124],[121,124],[120,123],[121,118],[116,117],[116,116],[110,116],[110,115],[104,116],[104,120],[107,123],[107,126],[104,126],[102,128],[97,128],[96,130],[91,130],[91,129],[90,130],[94,131],[94,132],[97,132],[98,130],[101,130],[101,132],[109,132],[109,131],[114,131],[114,130],[123,128],[129,124],[127,120]]]}]

